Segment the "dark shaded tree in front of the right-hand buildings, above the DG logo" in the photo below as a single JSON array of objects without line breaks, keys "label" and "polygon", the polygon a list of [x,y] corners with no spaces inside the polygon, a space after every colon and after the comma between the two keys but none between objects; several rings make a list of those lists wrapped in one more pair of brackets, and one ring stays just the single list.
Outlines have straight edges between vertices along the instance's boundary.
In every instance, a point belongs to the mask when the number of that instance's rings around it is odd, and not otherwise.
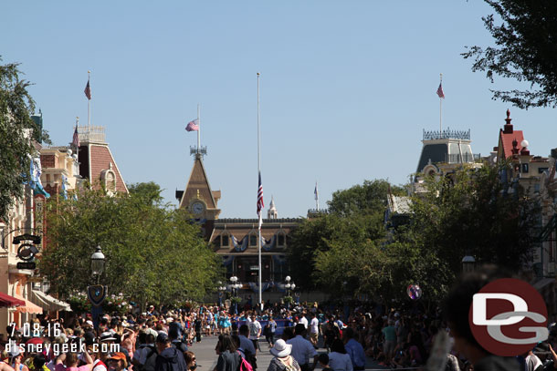
[{"label": "dark shaded tree in front of the right-hand buildings, above the DG logo", "polygon": [[468,254],[511,272],[531,260],[537,202],[530,190],[509,193],[500,170],[489,165],[457,170],[451,177],[430,179],[428,192],[414,198],[409,238],[424,252],[435,253],[448,272],[459,273]]}]

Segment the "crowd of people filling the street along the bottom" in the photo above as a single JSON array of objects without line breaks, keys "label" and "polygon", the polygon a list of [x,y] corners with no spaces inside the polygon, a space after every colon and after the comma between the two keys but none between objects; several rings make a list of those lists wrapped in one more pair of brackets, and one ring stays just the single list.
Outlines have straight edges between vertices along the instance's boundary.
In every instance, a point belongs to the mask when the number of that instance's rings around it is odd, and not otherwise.
[{"label": "crowd of people filling the street along the bottom", "polygon": [[[207,371],[417,369],[426,365],[436,336],[451,328],[440,309],[419,305],[385,310],[376,304],[335,309],[311,303],[290,309],[268,303],[262,310],[235,312],[222,305],[150,307],[145,313],[104,314],[98,324],[88,314],[66,323],[39,316],[27,324],[33,331],[6,329],[0,371],[194,371],[190,348],[207,336],[218,336],[215,370]],[[547,342],[517,358],[522,369],[553,370],[556,342],[557,328]],[[274,356],[268,365],[257,365],[262,351]],[[447,370],[474,369],[468,358],[459,349],[447,354]]]}]

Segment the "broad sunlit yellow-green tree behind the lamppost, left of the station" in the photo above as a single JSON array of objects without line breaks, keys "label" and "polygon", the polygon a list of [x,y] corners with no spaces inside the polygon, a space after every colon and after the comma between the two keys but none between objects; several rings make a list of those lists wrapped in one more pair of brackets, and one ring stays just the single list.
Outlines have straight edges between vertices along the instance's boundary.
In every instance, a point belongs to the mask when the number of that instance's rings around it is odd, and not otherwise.
[{"label": "broad sunlit yellow-green tree behind the lamppost, left of the station", "polygon": [[39,269],[51,291],[62,297],[84,291],[91,283],[89,256],[98,244],[107,261],[101,282],[128,300],[179,304],[201,300],[213,289],[222,263],[199,226],[186,212],[143,196],[83,190],[78,201],[50,202],[48,245]]}]

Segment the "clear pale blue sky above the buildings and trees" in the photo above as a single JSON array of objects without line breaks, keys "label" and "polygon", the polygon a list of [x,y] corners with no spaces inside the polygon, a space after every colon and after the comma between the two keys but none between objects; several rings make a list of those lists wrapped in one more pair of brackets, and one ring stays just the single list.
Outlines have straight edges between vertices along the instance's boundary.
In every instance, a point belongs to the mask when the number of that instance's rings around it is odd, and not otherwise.
[{"label": "clear pale blue sky above the buildings and trees", "polygon": [[[261,166],[268,206],[305,216],[363,180],[405,183],[422,129],[471,129],[488,155],[510,108],[531,153],[557,147],[555,110],[491,100],[495,84],[460,53],[492,45],[474,0],[438,1],[12,1],[2,6],[0,55],[20,62],[54,145],[71,141],[91,70],[91,121],[106,127],[128,183],[183,190],[201,104],[202,145],[221,217],[256,217],[257,76]],[[267,208],[266,208],[267,209]],[[265,211],[266,212],[266,211]]]}]

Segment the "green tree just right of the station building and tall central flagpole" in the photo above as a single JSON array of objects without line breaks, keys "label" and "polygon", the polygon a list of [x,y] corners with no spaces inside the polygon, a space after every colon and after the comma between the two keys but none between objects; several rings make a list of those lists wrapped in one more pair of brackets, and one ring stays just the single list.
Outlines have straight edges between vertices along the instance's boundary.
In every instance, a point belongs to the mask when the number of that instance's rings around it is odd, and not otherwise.
[{"label": "green tree just right of the station building and tall central flagpole", "polygon": [[376,283],[376,271],[370,265],[363,266],[359,258],[384,257],[379,246],[385,236],[389,187],[396,192],[403,190],[386,180],[365,180],[362,185],[335,191],[328,202],[330,214],[306,220],[292,233],[289,271],[300,289],[354,294]]}]

